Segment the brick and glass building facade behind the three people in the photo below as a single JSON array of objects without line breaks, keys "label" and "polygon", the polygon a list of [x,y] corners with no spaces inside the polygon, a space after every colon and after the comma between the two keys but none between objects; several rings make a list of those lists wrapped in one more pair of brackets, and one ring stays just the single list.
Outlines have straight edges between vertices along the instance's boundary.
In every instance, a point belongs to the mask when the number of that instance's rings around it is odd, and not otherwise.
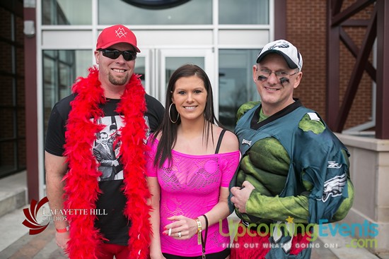
[{"label": "brick and glass building facade behind the three people", "polygon": [[135,72],[162,104],[175,68],[204,68],[216,116],[230,129],[240,104],[259,100],[251,73],[260,48],[285,39],[303,56],[295,97],[343,133],[352,153],[356,195],[345,220],[378,224],[370,250],[388,252],[388,1],[12,0],[0,1],[0,21],[0,179],[26,170],[28,200],[45,196],[50,111],[95,64],[103,28],[134,31]]}]

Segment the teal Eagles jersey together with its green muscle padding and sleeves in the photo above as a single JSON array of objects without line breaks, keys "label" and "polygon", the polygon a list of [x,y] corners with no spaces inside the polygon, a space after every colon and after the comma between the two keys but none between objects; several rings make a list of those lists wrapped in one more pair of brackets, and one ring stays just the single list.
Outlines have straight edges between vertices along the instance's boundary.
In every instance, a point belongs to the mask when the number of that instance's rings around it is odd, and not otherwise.
[{"label": "teal Eagles jersey together with its green muscle padding and sleeves", "polygon": [[344,218],[352,206],[347,148],[320,116],[298,100],[260,121],[260,104],[238,110],[236,135],[243,158],[235,186],[250,181],[246,222],[318,223]]}]

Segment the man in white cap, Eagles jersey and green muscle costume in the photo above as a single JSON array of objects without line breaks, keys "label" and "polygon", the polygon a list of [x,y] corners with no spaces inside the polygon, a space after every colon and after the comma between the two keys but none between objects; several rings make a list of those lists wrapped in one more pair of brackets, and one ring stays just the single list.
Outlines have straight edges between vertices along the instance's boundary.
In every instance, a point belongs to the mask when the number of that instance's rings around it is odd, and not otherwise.
[{"label": "man in white cap, Eagles jersey and green muscle costume", "polygon": [[243,158],[231,202],[241,224],[231,259],[310,258],[315,224],[339,221],[352,207],[349,152],[317,112],[293,97],[303,76],[293,44],[266,44],[256,63],[261,101],[238,110]]}]

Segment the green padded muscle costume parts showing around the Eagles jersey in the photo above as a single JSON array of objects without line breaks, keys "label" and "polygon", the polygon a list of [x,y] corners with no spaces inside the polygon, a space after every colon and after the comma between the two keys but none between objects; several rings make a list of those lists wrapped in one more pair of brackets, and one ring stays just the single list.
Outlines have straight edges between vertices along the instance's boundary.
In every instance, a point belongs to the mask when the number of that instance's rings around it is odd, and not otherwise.
[{"label": "green padded muscle costume parts showing around the Eagles jersey", "polygon": [[[238,111],[238,118],[256,104],[257,102],[243,104]],[[313,131],[313,133],[318,134],[324,131],[325,126],[320,121],[312,121],[306,114],[299,123],[299,128],[303,131]],[[293,217],[295,223],[309,223],[308,197],[313,185],[309,181],[303,181],[306,191],[296,196],[279,197],[277,194],[281,193],[284,188],[288,174],[289,155],[278,140],[274,138],[265,138],[260,141],[261,143],[257,147],[252,146],[240,164],[240,171],[237,176],[238,186],[247,180],[255,186],[255,189],[246,203],[247,214],[241,214],[238,210],[236,210],[236,214],[248,222],[252,222],[252,217],[248,216],[252,215],[259,217],[260,222],[265,222],[266,219],[285,221],[286,218]],[[348,165],[349,160],[346,152],[343,152],[343,155],[346,157]],[[305,173],[301,172],[301,176],[303,174]],[[347,177],[347,185],[349,198],[342,201],[335,215],[332,219],[329,219],[330,222],[343,219],[352,206],[354,187],[349,177]]]}]

